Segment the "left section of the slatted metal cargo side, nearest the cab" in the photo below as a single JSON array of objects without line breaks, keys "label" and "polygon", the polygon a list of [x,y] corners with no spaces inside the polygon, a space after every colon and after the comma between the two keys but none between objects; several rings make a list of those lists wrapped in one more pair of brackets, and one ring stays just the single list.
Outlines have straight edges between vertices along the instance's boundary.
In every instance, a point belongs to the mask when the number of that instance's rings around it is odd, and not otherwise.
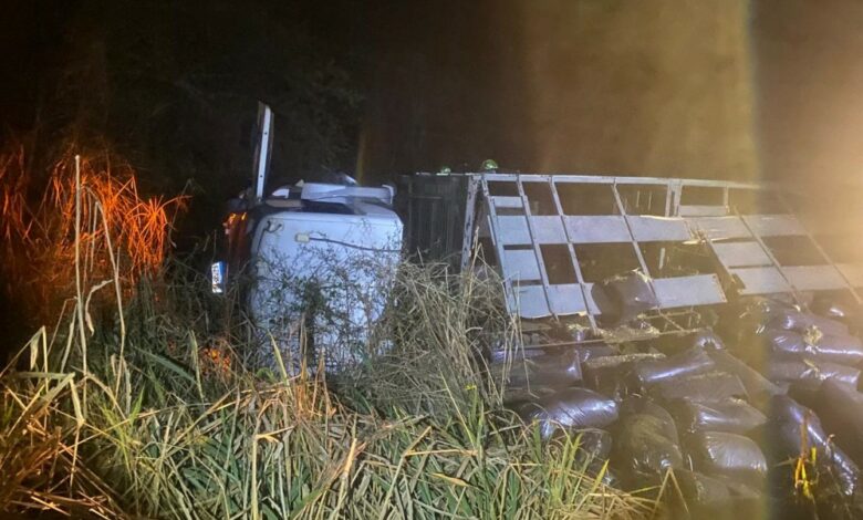
[{"label": "left section of the slatted metal cargo side, nearest the cab", "polygon": [[[524,176],[527,178],[527,176]],[[666,191],[665,215],[627,215],[623,200],[616,190],[616,179],[607,177],[530,176],[530,183],[543,183],[553,201],[554,215],[532,215],[522,184],[522,176],[484,175],[482,193],[486,194],[489,229],[499,252],[501,274],[507,284],[510,311],[522,318],[565,316],[586,314],[591,322],[601,313],[592,298],[592,283],[586,283],[581,273],[575,246],[599,243],[628,243],[641,270],[646,274],[648,267],[643,258],[641,242],[684,242],[694,233],[688,222],[669,215],[675,208],[674,180],[653,180],[628,184],[652,184]],[[631,179],[627,179],[631,180]],[[510,184],[506,193],[518,193],[519,197],[490,195],[490,183]],[[561,204],[557,184],[603,184],[610,185],[614,197],[609,215],[566,215]],[[497,188],[501,187],[496,185]],[[521,199],[521,204],[519,200]],[[501,211],[506,208],[506,211]],[[518,215],[513,215],[512,210]],[[523,212],[522,212],[523,211]],[[548,209],[545,210],[548,212]],[[569,256],[575,279],[563,283],[551,283],[545,272],[543,246],[562,246]],[[527,283],[527,284],[526,284]],[[656,292],[661,309],[707,305],[726,301],[715,274],[697,274],[649,282]]]}]

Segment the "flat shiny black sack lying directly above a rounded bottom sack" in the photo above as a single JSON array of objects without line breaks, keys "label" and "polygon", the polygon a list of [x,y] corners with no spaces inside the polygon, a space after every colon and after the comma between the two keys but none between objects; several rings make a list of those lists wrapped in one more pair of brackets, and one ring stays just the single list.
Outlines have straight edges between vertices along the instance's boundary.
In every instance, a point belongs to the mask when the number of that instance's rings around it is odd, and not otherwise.
[{"label": "flat shiny black sack lying directly above a rounded bottom sack", "polygon": [[767,423],[767,416],[741,399],[699,403],[680,399],[669,406],[680,429],[747,434]]}]

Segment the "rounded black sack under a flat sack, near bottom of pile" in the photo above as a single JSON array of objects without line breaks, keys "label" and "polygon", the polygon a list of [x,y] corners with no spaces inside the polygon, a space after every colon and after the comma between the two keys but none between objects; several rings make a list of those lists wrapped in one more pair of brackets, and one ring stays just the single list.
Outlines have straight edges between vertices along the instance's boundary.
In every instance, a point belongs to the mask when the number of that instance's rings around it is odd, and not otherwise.
[{"label": "rounded black sack under a flat sack, near bottom of pile", "polygon": [[726,431],[699,431],[686,438],[686,451],[697,471],[724,476],[761,488],[767,459],[749,437]]}]

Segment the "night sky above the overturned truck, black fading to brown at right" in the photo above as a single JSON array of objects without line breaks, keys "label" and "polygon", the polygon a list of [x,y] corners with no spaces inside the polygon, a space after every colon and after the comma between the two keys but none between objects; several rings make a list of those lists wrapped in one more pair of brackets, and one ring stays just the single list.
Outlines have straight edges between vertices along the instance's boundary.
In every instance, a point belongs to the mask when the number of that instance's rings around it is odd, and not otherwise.
[{"label": "night sky above the overturned truck, black fading to brown at right", "polygon": [[[285,178],[492,157],[524,171],[860,183],[855,0],[174,6],[11,3],[3,126],[83,121],[156,177],[223,170],[222,190],[245,181],[254,97],[278,101]],[[188,98],[162,94],[163,80]],[[170,146],[154,138],[171,131]]]}]

